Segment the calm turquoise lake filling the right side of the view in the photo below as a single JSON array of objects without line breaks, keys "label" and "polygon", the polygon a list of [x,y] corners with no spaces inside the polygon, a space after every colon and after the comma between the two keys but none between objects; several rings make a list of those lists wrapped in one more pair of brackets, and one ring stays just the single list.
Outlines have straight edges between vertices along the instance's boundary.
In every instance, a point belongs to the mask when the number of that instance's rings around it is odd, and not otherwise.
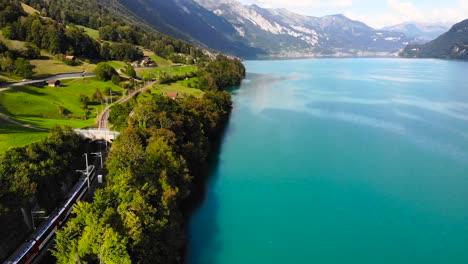
[{"label": "calm turquoise lake filling the right side of the view", "polygon": [[188,263],[468,263],[468,63],[245,65]]}]

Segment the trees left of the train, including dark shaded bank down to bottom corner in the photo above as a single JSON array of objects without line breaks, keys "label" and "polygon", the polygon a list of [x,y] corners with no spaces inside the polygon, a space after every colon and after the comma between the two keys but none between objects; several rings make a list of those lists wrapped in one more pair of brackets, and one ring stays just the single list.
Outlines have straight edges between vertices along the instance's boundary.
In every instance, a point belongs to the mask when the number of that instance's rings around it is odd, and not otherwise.
[{"label": "trees left of the train, including dark shaded bank down to bottom corner", "polygon": [[31,223],[22,220],[31,209],[50,212],[68,193],[84,166],[84,146],[71,129],[54,128],[40,142],[0,154],[0,258],[26,238]]}]

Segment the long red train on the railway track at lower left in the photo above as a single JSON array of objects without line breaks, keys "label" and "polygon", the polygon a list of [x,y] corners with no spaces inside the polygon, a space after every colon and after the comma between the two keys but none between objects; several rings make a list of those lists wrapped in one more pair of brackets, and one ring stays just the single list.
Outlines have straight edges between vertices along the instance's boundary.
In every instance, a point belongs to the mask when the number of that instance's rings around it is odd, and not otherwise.
[{"label": "long red train on the railway track at lower left", "polygon": [[[90,174],[89,180],[92,182],[96,172],[94,171],[93,165],[89,166],[88,168]],[[16,252],[7,259],[5,263],[31,263],[55,234],[57,228],[64,224],[65,220],[67,220],[68,216],[70,215],[73,206],[77,201],[81,200],[87,191],[88,180],[87,178],[82,178],[78,181],[78,183],[75,184],[75,186],[73,186],[73,189],[70,192],[67,200],[64,204],[62,204],[60,209],[49,216],[47,223],[42,225],[40,229],[34,233],[33,239],[24,242],[21,247],[18,248],[18,250],[16,250]]]}]

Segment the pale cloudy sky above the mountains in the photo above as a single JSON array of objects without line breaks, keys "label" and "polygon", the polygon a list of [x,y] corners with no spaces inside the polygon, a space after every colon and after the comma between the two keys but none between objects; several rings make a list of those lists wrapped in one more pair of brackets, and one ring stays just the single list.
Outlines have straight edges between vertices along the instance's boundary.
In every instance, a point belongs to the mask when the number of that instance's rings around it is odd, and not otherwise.
[{"label": "pale cloudy sky above the mountains", "polygon": [[374,28],[403,22],[452,25],[468,18],[468,0],[240,0],[312,16],[344,14]]}]

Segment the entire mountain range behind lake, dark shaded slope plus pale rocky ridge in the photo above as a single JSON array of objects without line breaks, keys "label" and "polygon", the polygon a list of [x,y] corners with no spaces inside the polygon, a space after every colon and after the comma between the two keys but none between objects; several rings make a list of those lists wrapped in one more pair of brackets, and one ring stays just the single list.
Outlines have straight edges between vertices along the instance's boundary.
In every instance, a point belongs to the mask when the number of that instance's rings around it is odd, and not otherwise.
[{"label": "entire mountain range behind lake, dark shaded slope plus pale rocky ridge", "polygon": [[113,0],[158,31],[244,58],[386,56],[417,43],[344,15],[312,17],[234,0]]}]

